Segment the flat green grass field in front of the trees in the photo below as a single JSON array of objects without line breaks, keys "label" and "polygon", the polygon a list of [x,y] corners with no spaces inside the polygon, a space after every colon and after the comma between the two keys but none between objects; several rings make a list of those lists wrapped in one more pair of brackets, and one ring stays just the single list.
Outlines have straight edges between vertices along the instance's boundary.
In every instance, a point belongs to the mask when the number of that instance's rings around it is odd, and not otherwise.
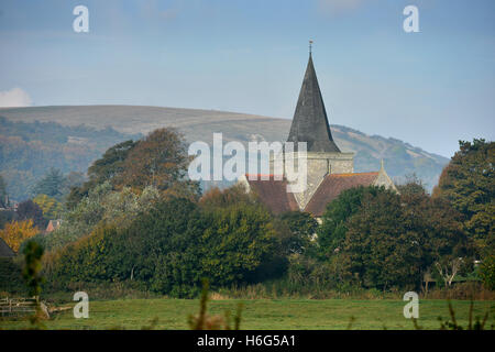
[{"label": "flat green grass field in front of the trees", "polygon": [[[243,302],[241,329],[414,329],[405,319],[402,300],[212,300],[209,314],[232,315],[239,302]],[[454,300],[452,306],[460,326],[468,326],[470,301]],[[188,329],[187,317],[197,314],[197,299],[123,299],[90,301],[89,318],[75,319],[73,311],[56,314],[45,321],[47,329],[141,329],[157,318],[155,329]],[[490,311],[487,329],[495,324],[495,302],[475,301],[473,317]],[[449,318],[446,300],[420,300],[418,323],[425,329],[438,329],[438,317]],[[0,320],[0,329],[25,329],[26,320]]]}]

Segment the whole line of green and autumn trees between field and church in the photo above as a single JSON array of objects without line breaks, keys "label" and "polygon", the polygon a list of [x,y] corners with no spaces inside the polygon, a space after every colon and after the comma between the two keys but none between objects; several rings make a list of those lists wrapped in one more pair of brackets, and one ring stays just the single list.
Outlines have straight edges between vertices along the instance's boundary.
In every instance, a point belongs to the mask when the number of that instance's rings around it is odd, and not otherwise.
[{"label": "whole line of green and autumn trees between field and church", "polygon": [[417,179],[399,194],[352,188],[319,224],[304,212],[273,215],[238,186],[201,194],[187,179],[184,138],[160,129],[110,147],[72,187],[61,228],[34,238],[57,289],[122,280],[193,297],[204,277],[212,288],[421,289],[425,275],[494,289],[493,162],[493,142],[461,142],[431,196]]}]

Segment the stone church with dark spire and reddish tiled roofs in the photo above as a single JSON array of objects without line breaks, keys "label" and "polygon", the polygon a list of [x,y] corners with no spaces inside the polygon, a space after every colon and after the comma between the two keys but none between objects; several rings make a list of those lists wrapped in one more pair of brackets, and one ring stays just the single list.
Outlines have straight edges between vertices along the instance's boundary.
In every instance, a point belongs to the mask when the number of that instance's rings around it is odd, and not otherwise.
[{"label": "stone church with dark spire and reddish tiled roofs", "polygon": [[249,175],[239,179],[246,191],[256,194],[275,215],[299,210],[319,219],[330,201],[352,187],[384,186],[397,191],[383,161],[377,172],[354,173],[354,153],[341,152],[333,141],[311,51],[287,141],[296,145],[297,142],[307,143],[307,187],[304,191],[287,193],[287,179],[275,179],[273,174],[267,180],[260,177],[253,180]]}]

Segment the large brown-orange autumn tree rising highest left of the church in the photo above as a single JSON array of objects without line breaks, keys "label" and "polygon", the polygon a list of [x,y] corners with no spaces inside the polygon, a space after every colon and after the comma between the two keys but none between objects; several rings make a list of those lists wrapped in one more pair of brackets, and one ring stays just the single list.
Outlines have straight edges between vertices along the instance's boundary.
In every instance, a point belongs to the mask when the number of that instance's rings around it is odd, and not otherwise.
[{"label": "large brown-orange autumn tree rising highest left of the church", "polygon": [[186,144],[174,129],[158,129],[139,141],[110,147],[89,168],[89,180],[72,189],[67,208],[74,209],[90,190],[109,183],[114,190],[130,187],[141,193],[155,187],[162,194],[197,200],[199,184],[187,178],[189,165]]}]

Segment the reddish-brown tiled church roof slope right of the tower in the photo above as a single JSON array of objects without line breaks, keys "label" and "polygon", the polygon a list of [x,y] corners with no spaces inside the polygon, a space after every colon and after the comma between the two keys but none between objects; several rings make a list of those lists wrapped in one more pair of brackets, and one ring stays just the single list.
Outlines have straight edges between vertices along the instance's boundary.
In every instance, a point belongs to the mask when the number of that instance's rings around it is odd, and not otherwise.
[{"label": "reddish-brown tiled church roof slope right of the tower", "polygon": [[321,217],[327,205],[339,197],[345,189],[371,186],[378,177],[378,173],[330,174],[323,178],[320,186],[305,208],[306,212],[315,217]]}]

